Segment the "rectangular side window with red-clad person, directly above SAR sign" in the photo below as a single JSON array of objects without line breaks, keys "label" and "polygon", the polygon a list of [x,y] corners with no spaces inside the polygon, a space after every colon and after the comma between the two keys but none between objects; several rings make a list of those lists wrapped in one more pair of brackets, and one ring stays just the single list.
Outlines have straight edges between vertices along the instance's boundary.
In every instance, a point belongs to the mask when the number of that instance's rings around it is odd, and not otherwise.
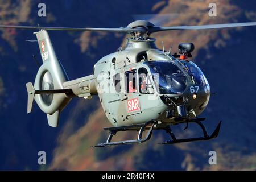
[{"label": "rectangular side window with red-clad person, directly above SAR sign", "polygon": [[137,69],[125,72],[126,93],[137,93]]}]

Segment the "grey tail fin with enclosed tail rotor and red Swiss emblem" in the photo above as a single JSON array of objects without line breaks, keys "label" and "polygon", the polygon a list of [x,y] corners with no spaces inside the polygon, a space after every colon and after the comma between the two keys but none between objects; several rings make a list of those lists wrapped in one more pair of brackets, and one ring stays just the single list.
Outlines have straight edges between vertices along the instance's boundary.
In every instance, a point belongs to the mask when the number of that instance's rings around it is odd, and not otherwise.
[{"label": "grey tail fin with enclosed tail rotor and red Swiss emblem", "polygon": [[31,82],[26,84],[28,91],[27,113],[31,112],[35,98],[40,109],[47,114],[49,125],[57,127],[60,111],[71,100],[65,94],[68,90],[63,89],[63,82],[68,81],[68,77],[57,59],[47,31],[41,30],[34,34],[38,39],[43,64],[36,75],[34,87]]}]

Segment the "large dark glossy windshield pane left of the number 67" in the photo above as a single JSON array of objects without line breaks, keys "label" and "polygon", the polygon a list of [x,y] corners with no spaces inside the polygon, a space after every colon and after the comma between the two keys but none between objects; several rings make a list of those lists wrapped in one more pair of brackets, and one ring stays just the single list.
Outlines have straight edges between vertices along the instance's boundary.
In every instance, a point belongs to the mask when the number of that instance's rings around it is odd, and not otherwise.
[{"label": "large dark glossy windshield pane left of the number 67", "polygon": [[187,76],[172,61],[144,62],[150,67],[156,89],[160,94],[177,94],[184,92]]}]

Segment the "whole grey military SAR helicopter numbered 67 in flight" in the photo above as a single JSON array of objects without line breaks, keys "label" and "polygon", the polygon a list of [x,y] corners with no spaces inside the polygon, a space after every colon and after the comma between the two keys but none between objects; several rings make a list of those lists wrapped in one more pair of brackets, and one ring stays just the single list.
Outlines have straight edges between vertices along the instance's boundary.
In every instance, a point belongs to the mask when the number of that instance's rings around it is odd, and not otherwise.
[{"label": "whole grey military SAR helicopter numbered 67 in flight", "polygon": [[[211,135],[199,118],[208,105],[210,86],[199,67],[191,60],[193,43],[180,43],[179,54],[159,49],[151,34],[168,30],[201,30],[256,26],[256,22],[211,24],[201,26],[156,27],[147,20],[137,20],[121,28],[71,28],[0,25],[0,28],[38,29],[34,32],[43,64],[32,82],[26,84],[27,113],[35,100],[47,114],[48,124],[57,127],[61,111],[73,97],[85,99],[98,95],[102,109],[113,127],[106,142],[92,147],[146,142],[153,130],[165,130],[171,140],[162,144],[209,140],[218,136],[221,121]],[[106,31],[130,34],[126,47],[102,57],[94,65],[93,74],[69,80],[57,59],[47,30]],[[171,126],[196,123],[203,137],[177,139]],[[112,142],[119,131],[138,131],[137,139]],[[143,137],[143,132],[147,133]]]}]

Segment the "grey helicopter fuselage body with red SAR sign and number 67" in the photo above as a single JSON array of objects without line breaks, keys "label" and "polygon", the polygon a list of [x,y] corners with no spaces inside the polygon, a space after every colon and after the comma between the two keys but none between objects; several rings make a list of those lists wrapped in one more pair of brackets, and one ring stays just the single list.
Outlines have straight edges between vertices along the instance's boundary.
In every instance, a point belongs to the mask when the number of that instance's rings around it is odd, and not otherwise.
[{"label": "grey helicopter fuselage body with red SAR sign and number 67", "polygon": [[[184,122],[188,118],[197,117],[208,104],[210,90],[206,78],[201,75],[202,78],[199,77],[199,80],[205,79],[204,84],[196,84],[192,76],[193,72],[184,71],[185,68],[182,65],[191,61],[175,59],[167,52],[156,48],[154,42],[153,38],[147,40],[128,38],[124,50],[102,57],[94,65],[93,81],[90,82],[93,86],[89,88],[90,94],[82,96],[90,97],[96,94],[95,90],[97,90],[104,113],[113,126],[133,125],[152,120],[163,125]],[[181,72],[184,72],[186,79],[182,92],[161,93],[159,91],[151,72],[152,68],[148,66],[158,61],[175,64]],[[126,73],[129,71],[138,73],[139,68],[146,69],[148,72],[147,77],[152,83],[150,94],[141,93],[139,89],[133,93],[127,91]],[[115,77],[116,75],[119,75],[118,78]],[[139,88],[139,80],[135,82]],[[193,98],[193,94],[196,98]],[[185,115],[179,115],[178,106],[180,105],[184,106]],[[171,114],[167,115],[168,112]]]}]

